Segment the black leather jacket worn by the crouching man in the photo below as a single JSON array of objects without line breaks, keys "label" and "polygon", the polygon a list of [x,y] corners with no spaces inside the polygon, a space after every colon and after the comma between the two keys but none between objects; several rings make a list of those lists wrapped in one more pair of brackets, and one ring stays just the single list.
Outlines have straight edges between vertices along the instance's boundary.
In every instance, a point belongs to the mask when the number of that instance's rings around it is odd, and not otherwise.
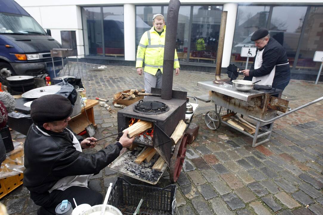
[{"label": "black leather jacket worn by the crouching man", "polygon": [[116,159],[122,145],[108,145],[94,154],[85,154],[75,149],[70,133],[46,131],[41,133],[32,124],[25,141],[24,185],[30,192],[46,193],[61,178],[66,176],[98,173]]}]

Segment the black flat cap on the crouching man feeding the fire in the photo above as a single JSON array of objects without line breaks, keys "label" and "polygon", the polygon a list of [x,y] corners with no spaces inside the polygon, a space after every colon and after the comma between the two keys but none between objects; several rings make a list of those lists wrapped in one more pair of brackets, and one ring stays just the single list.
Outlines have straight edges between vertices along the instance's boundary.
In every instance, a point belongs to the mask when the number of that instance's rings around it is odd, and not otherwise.
[{"label": "black flat cap on the crouching man feeding the fire", "polygon": [[30,105],[30,116],[37,125],[68,118],[73,112],[71,102],[64,96],[53,94],[35,99]]}]

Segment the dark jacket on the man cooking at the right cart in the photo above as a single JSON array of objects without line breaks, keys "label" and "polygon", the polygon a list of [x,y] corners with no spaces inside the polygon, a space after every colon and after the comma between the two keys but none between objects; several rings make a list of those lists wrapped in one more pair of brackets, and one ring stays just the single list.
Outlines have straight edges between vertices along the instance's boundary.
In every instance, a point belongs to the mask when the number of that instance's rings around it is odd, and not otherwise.
[{"label": "dark jacket on the man cooking at the right cart", "polygon": [[[256,53],[258,49],[256,50]],[[287,55],[285,49],[274,38],[269,41],[263,52],[262,66],[255,70],[255,63],[251,65],[249,76],[259,77],[267,75],[274,69],[275,65],[287,63]],[[275,77],[272,86],[286,83],[290,80],[289,64],[276,66]]]}]

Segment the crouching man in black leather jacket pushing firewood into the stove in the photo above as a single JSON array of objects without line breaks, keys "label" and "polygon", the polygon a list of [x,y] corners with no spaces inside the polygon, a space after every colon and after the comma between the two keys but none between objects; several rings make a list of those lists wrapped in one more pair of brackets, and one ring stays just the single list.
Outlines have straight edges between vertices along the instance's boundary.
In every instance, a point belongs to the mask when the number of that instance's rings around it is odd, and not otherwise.
[{"label": "crouching man in black leather jacket pushing firewood into the stove", "polygon": [[[82,149],[96,145],[94,137],[80,140],[67,128],[73,108],[61,95],[44,95],[30,106],[34,124],[25,141],[24,185],[30,198],[42,206],[37,214],[54,214],[56,206],[67,199],[91,206],[102,203],[102,195],[88,188],[88,179],[116,159],[122,147],[129,147],[134,138],[125,132],[119,142],[94,154]],[[73,208],[74,203],[72,204]]]}]

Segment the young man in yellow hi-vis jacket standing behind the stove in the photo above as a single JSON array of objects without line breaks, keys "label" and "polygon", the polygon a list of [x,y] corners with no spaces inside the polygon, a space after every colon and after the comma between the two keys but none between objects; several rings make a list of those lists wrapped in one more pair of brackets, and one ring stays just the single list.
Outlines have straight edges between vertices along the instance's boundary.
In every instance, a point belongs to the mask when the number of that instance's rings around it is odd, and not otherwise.
[{"label": "young man in yellow hi-vis jacket standing behind the stove", "polygon": [[[136,68],[139,75],[142,75],[142,63],[145,61],[144,80],[145,92],[150,93],[151,88],[161,88],[162,83],[162,66],[164,58],[165,45],[165,18],[161,14],[155,14],[152,18],[153,27],[146,31],[139,42],[137,50]],[[175,75],[180,72],[180,64],[178,62],[175,50],[174,57]]]}]

